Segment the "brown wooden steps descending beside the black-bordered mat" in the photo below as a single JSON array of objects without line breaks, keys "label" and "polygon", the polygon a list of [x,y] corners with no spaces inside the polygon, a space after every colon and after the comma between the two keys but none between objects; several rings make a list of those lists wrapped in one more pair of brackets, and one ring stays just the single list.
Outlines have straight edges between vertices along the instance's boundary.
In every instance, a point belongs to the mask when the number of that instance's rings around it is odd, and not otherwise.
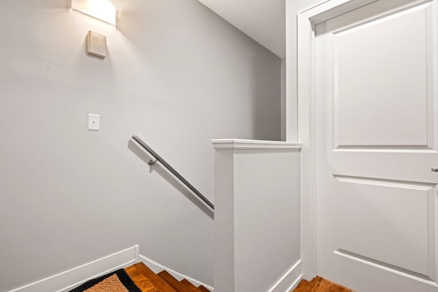
[{"label": "brown wooden steps descending beside the black-bordered mat", "polygon": [[167,271],[155,274],[144,263],[131,265],[125,271],[142,292],[210,292],[202,285],[194,286],[188,280],[179,281]]}]

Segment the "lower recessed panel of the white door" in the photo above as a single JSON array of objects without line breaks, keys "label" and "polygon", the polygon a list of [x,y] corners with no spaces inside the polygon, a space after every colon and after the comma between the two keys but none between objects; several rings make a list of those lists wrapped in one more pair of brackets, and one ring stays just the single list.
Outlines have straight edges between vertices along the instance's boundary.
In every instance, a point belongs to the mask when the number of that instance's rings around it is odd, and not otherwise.
[{"label": "lower recessed panel of the white door", "polygon": [[[433,281],[436,257],[429,247],[436,246],[436,211],[428,212],[428,204],[435,200],[436,185],[357,176],[333,179],[335,254]],[[404,233],[394,226],[403,226]]]}]

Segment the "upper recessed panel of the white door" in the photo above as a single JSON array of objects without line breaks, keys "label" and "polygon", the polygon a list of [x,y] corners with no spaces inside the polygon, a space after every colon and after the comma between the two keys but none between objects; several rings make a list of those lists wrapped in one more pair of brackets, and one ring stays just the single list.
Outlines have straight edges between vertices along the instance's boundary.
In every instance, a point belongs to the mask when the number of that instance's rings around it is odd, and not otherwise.
[{"label": "upper recessed panel of the white door", "polygon": [[[427,64],[433,63],[427,55],[433,49],[427,47],[431,36],[426,34],[432,28],[431,19],[426,17],[430,6],[409,6],[397,13],[389,10],[354,25],[336,27],[330,33],[334,47],[335,148],[433,149],[433,115],[428,115],[428,108],[433,108],[433,92],[430,96],[426,90],[430,83]],[[325,22],[322,27],[338,22]],[[398,86],[388,82],[386,76],[396,80]],[[368,86],[358,86],[359,82]]]}]

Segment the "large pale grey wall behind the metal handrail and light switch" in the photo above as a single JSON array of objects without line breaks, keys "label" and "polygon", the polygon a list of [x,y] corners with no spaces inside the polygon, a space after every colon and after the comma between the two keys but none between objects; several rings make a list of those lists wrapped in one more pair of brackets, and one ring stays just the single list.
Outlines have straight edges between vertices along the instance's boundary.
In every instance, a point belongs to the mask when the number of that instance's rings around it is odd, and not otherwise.
[{"label": "large pale grey wall behind the metal handrail and light switch", "polygon": [[[0,291],[134,243],[213,284],[211,218],[129,137],[210,200],[212,137],[280,137],[278,57],[196,0],[119,4],[115,30],[68,1],[1,1]],[[103,61],[88,29],[107,35]]]}]

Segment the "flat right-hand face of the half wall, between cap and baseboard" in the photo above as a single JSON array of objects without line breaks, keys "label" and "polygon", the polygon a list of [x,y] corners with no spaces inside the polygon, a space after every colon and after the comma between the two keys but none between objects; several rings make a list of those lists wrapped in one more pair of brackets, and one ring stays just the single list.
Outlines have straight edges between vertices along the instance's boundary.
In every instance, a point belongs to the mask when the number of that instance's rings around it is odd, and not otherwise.
[{"label": "flat right-hand face of the half wall, between cap and baseboard", "polygon": [[300,152],[240,150],[234,164],[235,291],[268,291],[300,260]]}]

